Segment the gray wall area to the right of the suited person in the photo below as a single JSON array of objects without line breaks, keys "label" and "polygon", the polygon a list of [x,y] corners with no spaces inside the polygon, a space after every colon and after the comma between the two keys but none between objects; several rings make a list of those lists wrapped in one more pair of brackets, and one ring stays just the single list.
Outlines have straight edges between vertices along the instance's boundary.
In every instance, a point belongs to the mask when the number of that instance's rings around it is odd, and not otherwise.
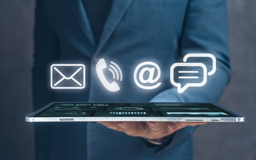
[{"label": "gray wall area to the right of the suited person", "polygon": [[246,122],[199,127],[195,160],[256,160],[256,0],[228,2],[232,75],[219,103]]}]

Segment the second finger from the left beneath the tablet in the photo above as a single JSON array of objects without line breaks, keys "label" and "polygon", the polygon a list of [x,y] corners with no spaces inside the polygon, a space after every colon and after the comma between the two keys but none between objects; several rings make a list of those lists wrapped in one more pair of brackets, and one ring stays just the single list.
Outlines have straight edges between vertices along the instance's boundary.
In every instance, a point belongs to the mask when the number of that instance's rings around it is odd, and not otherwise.
[{"label": "second finger from the left beneath the tablet", "polygon": [[116,122],[116,124],[130,136],[141,136],[147,131],[143,123],[140,122]]}]

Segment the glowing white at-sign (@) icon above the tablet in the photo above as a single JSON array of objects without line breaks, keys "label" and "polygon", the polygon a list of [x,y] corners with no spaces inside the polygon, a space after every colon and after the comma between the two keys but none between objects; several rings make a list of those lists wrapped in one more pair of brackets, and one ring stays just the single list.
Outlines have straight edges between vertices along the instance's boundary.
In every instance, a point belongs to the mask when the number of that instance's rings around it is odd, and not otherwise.
[{"label": "glowing white at-sign (@) icon above the tablet", "polygon": [[[160,78],[161,71],[160,71],[159,66],[158,66],[156,63],[154,63],[154,62],[143,62],[143,63],[140,63],[140,64],[135,68],[135,70],[134,70],[133,79],[134,79],[135,84],[136,84],[138,87],[143,88],[143,89],[154,89],[154,88],[157,88],[158,86],[160,86],[160,84],[161,84],[160,82],[158,82],[158,83],[155,84],[155,85],[151,85],[151,86],[145,86],[145,85],[142,85],[142,84],[140,84],[140,83],[138,82],[138,80],[137,80],[137,72],[138,72],[138,70],[139,70],[142,66],[144,66],[144,65],[153,65],[154,67],[153,67],[153,68],[145,67],[145,68],[143,68],[142,70],[140,70],[140,72],[139,72],[139,81],[140,81],[141,83],[144,83],[144,84],[146,84],[146,83],[151,83],[151,84],[152,84],[152,83],[156,83],[156,82],[159,80],[159,78]],[[157,76],[154,78],[155,68],[156,68],[156,70],[157,70]],[[144,76],[144,74],[145,74],[146,71],[149,72],[149,77],[148,77],[147,80],[145,80],[145,79],[143,78],[143,76]]]}]

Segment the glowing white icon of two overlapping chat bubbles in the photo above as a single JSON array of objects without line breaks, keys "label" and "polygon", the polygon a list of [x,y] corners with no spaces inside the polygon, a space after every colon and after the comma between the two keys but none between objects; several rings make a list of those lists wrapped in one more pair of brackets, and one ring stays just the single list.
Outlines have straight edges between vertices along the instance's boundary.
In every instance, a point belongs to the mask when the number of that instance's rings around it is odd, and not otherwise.
[{"label": "glowing white icon of two overlapping chat bubbles", "polygon": [[[213,75],[216,71],[216,58],[209,53],[189,53],[186,54],[183,58],[183,61],[186,62],[189,57],[210,57],[212,59],[212,70],[208,72],[208,75]],[[203,81],[200,83],[186,83],[181,87],[181,83],[174,81],[174,69],[177,66],[200,66],[203,69]],[[199,71],[178,71],[178,73],[199,73]],[[198,79],[199,76],[179,76],[178,79]],[[174,63],[170,68],[170,81],[172,85],[176,86],[179,93],[183,93],[188,87],[201,87],[207,82],[207,68],[203,63]]]}]

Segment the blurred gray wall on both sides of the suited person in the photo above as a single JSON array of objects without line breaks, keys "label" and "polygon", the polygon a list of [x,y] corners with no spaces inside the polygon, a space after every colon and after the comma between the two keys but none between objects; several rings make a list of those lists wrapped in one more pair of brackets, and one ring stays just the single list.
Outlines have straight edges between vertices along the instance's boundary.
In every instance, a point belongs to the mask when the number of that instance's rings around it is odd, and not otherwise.
[{"label": "blurred gray wall on both sides of the suited person", "polygon": [[[256,159],[256,1],[228,0],[232,79],[220,104],[245,123],[209,123],[194,134],[195,160]],[[0,1],[0,159],[34,159],[31,67],[33,0]],[[7,118],[8,117],[8,118]]]}]

